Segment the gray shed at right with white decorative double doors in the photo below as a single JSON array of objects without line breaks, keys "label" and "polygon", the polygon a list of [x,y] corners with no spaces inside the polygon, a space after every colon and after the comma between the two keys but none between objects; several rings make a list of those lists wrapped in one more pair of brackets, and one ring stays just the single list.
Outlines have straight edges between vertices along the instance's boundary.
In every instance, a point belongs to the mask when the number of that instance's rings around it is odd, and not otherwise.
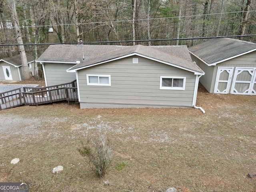
[{"label": "gray shed at right with white decorative double doors", "polygon": [[200,78],[210,93],[256,95],[256,44],[214,38],[188,48],[205,72]]}]

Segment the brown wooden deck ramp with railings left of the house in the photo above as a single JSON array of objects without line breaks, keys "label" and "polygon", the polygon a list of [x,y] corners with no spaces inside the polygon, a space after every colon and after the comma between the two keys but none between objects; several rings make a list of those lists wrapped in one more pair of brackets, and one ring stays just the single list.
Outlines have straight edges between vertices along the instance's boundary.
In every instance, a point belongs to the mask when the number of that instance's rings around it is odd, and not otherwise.
[{"label": "brown wooden deck ramp with railings left of the house", "polygon": [[58,102],[78,101],[76,80],[56,86],[48,87],[23,87],[0,93],[0,110],[9,109],[21,105],[35,105]]}]

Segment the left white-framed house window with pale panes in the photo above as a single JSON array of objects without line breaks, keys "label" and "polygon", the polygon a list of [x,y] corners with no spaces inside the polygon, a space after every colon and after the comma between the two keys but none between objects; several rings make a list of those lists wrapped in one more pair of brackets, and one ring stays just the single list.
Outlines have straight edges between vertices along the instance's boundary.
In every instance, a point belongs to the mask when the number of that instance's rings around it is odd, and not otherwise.
[{"label": "left white-framed house window with pale panes", "polygon": [[111,86],[110,75],[86,75],[87,85]]}]

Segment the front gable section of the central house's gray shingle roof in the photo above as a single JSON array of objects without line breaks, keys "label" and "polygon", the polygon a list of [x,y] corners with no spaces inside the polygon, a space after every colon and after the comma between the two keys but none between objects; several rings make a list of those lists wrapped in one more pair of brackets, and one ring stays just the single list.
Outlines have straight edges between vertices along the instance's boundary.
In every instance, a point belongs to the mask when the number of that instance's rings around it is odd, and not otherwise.
[{"label": "front gable section of the central house's gray shingle roof", "polygon": [[[175,54],[180,53],[180,55],[184,55],[186,59],[179,56],[172,55],[170,53],[175,53]],[[176,66],[178,68],[182,68],[185,70],[202,73],[202,70],[192,62],[186,46],[178,46],[178,47],[167,46],[166,49],[164,49],[163,46],[142,46],[142,45],[124,46],[121,49],[100,54],[97,57],[90,58],[88,60],[83,60],[81,63],[76,64],[69,70],[70,71],[80,70],[83,68],[87,68],[90,66],[102,64],[105,62],[117,60],[120,58],[132,56],[132,55],[142,56],[145,58],[156,60],[158,62],[163,62],[172,66]]]}]

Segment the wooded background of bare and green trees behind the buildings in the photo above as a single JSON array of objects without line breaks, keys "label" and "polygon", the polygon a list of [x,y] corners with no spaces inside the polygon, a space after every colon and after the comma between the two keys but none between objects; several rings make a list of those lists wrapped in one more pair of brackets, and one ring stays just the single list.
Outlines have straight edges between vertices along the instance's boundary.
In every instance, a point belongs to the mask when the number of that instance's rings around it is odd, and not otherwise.
[{"label": "wooded background of bare and green trees behind the buildings", "polygon": [[26,73],[25,52],[36,60],[54,43],[189,47],[218,36],[256,42],[255,24],[256,0],[0,0],[0,59],[23,55]]}]

